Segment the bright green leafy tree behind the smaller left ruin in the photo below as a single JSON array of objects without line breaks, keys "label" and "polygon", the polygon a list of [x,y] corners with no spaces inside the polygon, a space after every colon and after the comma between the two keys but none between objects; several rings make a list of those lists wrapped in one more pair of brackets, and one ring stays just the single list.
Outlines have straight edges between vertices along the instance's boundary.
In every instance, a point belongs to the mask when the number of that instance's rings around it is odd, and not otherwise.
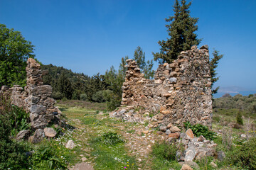
[{"label": "bright green leafy tree behind the smaller left ruin", "polygon": [[35,56],[33,47],[20,32],[0,23],[0,86],[26,85],[26,60]]}]

